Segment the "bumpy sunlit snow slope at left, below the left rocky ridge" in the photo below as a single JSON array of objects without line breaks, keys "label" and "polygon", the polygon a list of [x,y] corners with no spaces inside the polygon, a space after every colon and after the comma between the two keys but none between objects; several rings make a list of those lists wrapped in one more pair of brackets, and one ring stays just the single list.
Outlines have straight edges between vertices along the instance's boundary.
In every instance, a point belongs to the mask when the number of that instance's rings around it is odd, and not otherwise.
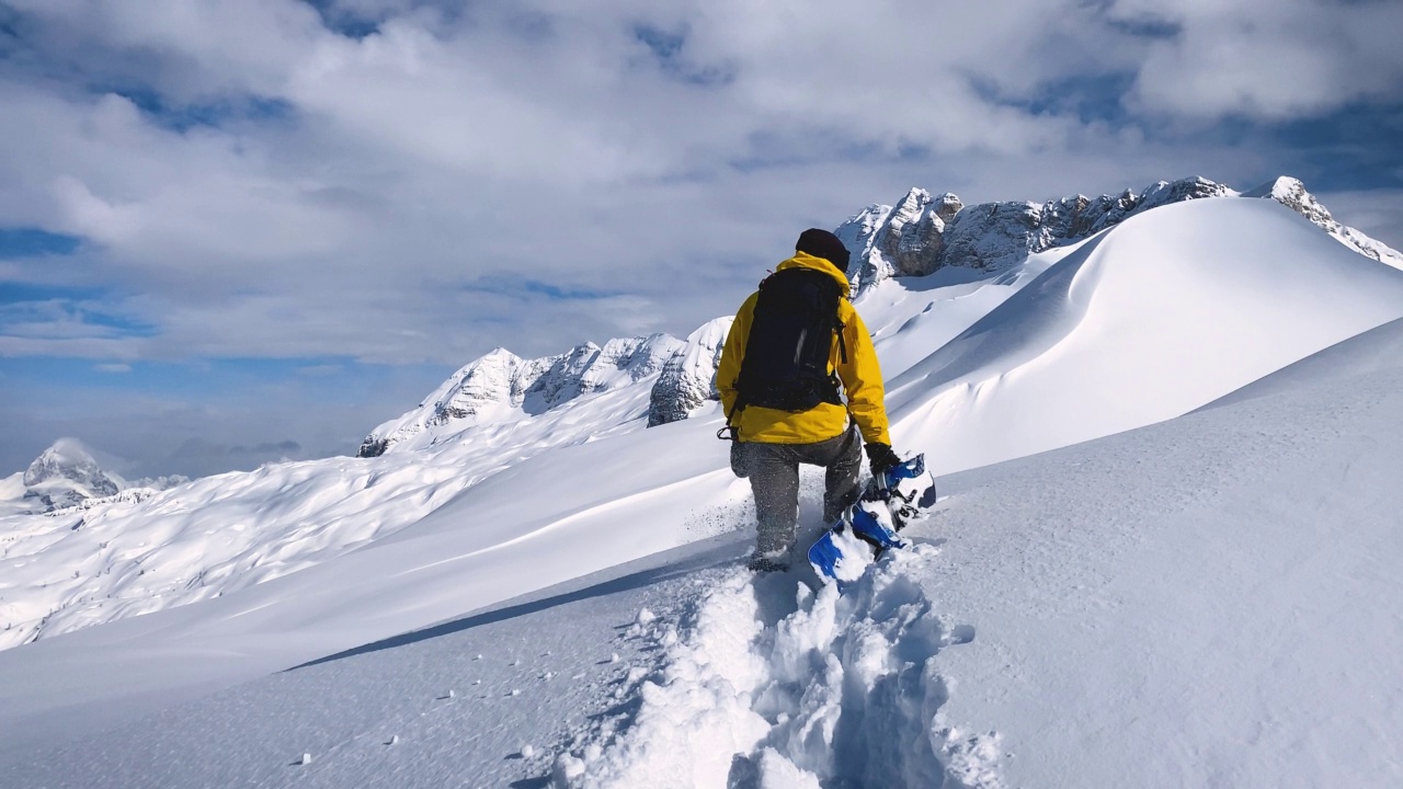
[{"label": "bumpy sunlit snow slope at left, below the left rocky ridge", "polygon": [[449,435],[432,452],[276,463],[0,519],[0,646],[261,584],[418,522],[553,448],[641,431],[648,386]]}]

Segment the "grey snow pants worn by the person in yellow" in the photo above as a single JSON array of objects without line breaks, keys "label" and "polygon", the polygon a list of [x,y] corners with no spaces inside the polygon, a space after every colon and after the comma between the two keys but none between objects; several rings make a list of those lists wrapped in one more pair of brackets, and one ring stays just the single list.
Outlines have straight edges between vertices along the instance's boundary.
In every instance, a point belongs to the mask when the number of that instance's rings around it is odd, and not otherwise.
[{"label": "grey snow pants worn by the person in yellow", "polygon": [[731,446],[731,470],[751,479],[755,493],[756,550],[776,553],[794,545],[798,522],[798,465],[825,466],[824,524],[832,524],[857,500],[861,470],[861,439],[857,427],[815,444],[760,444],[737,441]]}]

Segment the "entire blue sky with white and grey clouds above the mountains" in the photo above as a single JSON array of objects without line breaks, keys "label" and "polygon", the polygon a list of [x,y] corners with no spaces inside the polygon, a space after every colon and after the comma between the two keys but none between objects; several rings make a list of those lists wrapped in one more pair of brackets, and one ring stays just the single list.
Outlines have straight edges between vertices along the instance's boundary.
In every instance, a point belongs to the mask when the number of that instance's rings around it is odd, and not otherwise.
[{"label": "entire blue sky with white and grey clouds above the mountains", "polygon": [[808,226],[1292,174],[1403,247],[1403,4],[0,0],[0,473],[354,452]]}]

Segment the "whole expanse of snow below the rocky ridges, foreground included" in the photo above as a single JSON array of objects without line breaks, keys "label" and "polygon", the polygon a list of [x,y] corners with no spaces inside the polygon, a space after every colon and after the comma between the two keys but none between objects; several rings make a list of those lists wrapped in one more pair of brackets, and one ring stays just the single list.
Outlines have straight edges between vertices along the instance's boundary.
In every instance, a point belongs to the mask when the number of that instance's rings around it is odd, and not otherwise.
[{"label": "whole expanse of snow below the rocky ridges, foreground included", "polygon": [[[41,605],[107,622],[0,653],[4,775],[1396,783],[1403,274],[1239,198],[1044,254],[996,281],[937,272],[860,300],[895,379],[898,449],[965,470],[909,532],[922,548],[849,595],[737,570],[751,515],[710,438],[718,418],[643,430],[645,386],[441,435],[434,452],[0,522],[0,611],[53,581],[66,597]],[[153,562],[203,560],[230,514],[258,529],[215,550],[230,567],[217,591],[161,571],[132,585]],[[122,614],[94,614],[87,581],[69,583],[56,559],[97,541],[130,541],[91,577],[135,592]]]}]

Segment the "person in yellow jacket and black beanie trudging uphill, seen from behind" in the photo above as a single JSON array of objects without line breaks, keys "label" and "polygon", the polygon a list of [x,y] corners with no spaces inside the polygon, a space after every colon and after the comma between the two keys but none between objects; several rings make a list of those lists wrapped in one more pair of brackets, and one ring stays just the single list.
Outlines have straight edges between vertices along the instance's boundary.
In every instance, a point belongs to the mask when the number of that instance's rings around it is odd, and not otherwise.
[{"label": "person in yellow jacket and black beanie trudging uphill, seen from behind", "polygon": [[847,300],[847,257],[838,236],[804,230],[794,256],[741,305],[721,351],[718,435],[734,441],[731,470],[755,494],[756,571],[788,569],[800,463],[826,468],[824,522],[832,524],[859,496],[859,432],[874,475],[901,462],[877,351]]}]

